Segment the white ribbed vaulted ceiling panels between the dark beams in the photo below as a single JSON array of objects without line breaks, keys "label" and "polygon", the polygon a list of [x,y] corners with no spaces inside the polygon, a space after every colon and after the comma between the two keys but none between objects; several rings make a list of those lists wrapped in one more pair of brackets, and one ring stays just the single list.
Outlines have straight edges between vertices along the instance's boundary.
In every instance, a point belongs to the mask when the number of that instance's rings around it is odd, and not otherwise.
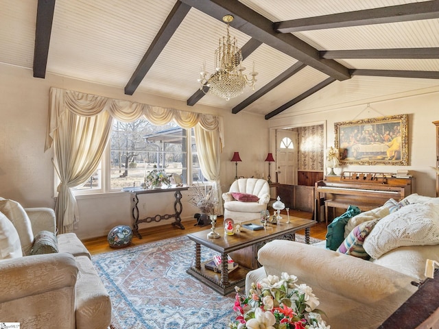
[{"label": "white ribbed vaulted ceiling panels between the dark beams", "polygon": [[[40,0],[43,1],[43,0]],[[201,0],[198,0],[201,1]],[[202,0],[230,3],[254,10],[271,22],[313,16],[422,3],[410,0]],[[183,3],[187,1],[183,0]],[[438,1],[429,1],[437,3]],[[235,5],[234,5],[235,3]],[[176,0],[56,0],[52,23],[47,73],[106,84],[124,89]],[[236,5],[239,4],[239,5]],[[37,1],[0,0],[0,62],[32,69],[36,36]],[[239,11],[239,9],[238,9]],[[236,12],[233,12],[237,16]],[[239,14],[239,12],[238,12]],[[252,23],[250,21],[250,23]],[[230,27],[239,47],[252,36]],[[152,93],[186,101],[200,87],[202,63],[213,72],[213,54],[226,25],[209,14],[191,8],[171,36],[163,51],[137,87],[137,92]],[[277,33],[276,33],[277,34]],[[317,51],[349,49],[399,49],[439,47],[439,19],[403,21],[351,27],[336,27],[294,32]],[[285,34],[280,34],[282,38]],[[256,38],[253,36],[253,38]],[[334,60],[331,60],[334,61]],[[347,69],[439,72],[439,59],[337,59]],[[248,71],[255,63],[257,86],[226,101],[204,95],[198,103],[232,110],[283,73],[297,60],[268,45],[261,45],[244,60]],[[276,88],[244,108],[254,114],[270,114],[285,103],[300,97],[329,75],[306,66]],[[438,75],[434,77],[438,79]],[[410,84],[410,78],[401,78]],[[437,80],[436,80],[437,81]],[[364,90],[361,90],[364,93]]]}]

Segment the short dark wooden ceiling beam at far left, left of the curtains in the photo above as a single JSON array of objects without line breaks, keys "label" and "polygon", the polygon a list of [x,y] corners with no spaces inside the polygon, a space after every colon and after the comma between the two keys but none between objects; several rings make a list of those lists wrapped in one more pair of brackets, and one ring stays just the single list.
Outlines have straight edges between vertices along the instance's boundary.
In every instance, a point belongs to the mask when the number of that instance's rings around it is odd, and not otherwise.
[{"label": "short dark wooden ceiling beam at far left, left of the curtains", "polygon": [[45,78],[55,0],[38,0],[34,46],[34,77]]}]

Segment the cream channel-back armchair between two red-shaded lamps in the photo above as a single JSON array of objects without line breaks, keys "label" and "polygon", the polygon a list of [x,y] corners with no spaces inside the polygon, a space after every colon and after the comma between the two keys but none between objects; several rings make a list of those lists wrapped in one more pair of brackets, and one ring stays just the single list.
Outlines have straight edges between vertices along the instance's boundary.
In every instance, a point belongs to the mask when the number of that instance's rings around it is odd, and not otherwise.
[{"label": "cream channel-back armchair between two red-shaded lamps", "polygon": [[[232,193],[247,193],[256,195],[257,202],[237,201]],[[230,190],[223,193],[224,219],[231,218],[234,221],[249,221],[259,219],[261,210],[266,210],[270,202],[270,186],[266,180],[257,178],[240,178],[230,186]]]}]

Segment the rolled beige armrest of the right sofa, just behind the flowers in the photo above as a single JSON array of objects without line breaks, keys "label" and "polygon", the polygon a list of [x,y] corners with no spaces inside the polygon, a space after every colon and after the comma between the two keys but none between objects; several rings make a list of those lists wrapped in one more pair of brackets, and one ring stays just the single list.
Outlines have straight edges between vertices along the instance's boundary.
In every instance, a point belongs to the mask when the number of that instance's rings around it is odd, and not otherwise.
[{"label": "rolled beige armrest of the right sofa, just behind the flowers", "polygon": [[405,301],[416,291],[412,277],[353,256],[295,241],[271,241],[259,249],[267,274],[282,272],[309,287],[324,289],[364,304]]}]

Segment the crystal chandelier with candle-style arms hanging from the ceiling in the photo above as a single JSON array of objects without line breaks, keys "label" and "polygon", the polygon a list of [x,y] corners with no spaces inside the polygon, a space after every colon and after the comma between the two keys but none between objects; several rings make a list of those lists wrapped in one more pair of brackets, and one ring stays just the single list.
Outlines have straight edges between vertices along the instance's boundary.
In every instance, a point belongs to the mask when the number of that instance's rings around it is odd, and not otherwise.
[{"label": "crystal chandelier with candle-style arms hanging from the ceiling", "polygon": [[242,54],[238,47],[238,42],[235,37],[230,38],[228,32],[229,23],[233,21],[232,15],[226,15],[222,20],[227,23],[227,36],[219,38],[219,46],[215,50],[215,73],[209,78],[209,73],[206,72],[206,64],[203,64],[200,72],[200,90],[204,93],[204,86],[209,87],[209,91],[218,97],[222,97],[227,101],[230,98],[237,97],[244,93],[246,86],[251,86],[254,90],[256,84],[257,72],[253,70],[250,73],[251,79],[244,74],[246,68],[241,65]]}]

